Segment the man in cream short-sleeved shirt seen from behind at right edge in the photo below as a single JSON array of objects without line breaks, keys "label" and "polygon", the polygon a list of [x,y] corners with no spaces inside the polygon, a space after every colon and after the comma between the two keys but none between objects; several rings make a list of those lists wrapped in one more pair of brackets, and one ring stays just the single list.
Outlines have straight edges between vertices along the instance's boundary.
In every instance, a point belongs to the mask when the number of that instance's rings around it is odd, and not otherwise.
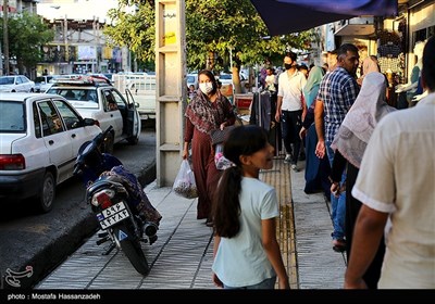
[{"label": "man in cream short-sleeved shirt seen from behind at right edge", "polygon": [[387,219],[380,289],[435,289],[435,37],[423,52],[422,84],[430,93],[414,107],[385,116],[365,149],[352,195],[357,219],[345,288],[362,279]]}]

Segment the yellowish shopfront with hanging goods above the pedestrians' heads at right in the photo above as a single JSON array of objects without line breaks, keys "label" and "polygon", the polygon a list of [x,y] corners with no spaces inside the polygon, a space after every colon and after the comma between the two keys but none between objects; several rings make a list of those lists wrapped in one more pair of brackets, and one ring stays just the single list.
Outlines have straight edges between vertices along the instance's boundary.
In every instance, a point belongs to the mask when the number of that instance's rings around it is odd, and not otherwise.
[{"label": "yellowish shopfront with hanging goods above the pedestrians' heads at right", "polygon": [[368,55],[377,56],[381,72],[388,78],[390,103],[395,105],[395,87],[409,81],[415,65],[415,42],[435,35],[435,1],[398,0],[397,16],[360,16],[322,25],[315,30],[321,42],[312,45],[312,63],[322,65],[322,54],[345,42],[356,45],[360,62]]}]

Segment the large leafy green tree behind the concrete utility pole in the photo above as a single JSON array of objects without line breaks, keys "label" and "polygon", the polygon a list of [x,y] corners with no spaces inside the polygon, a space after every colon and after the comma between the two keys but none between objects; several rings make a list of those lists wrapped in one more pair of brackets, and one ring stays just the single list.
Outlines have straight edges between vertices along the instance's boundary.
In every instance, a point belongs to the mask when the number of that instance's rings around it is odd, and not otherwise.
[{"label": "large leafy green tree behind the concrete utility pole", "polygon": [[[136,10],[126,13],[132,5]],[[187,67],[232,69],[236,92],[241,65],[262,63],[265,58],[282,64],[285,51],[303,50],[314,38],[313,31],[302,31],[265,39],[268,29],[249,0],[185,0],[185,5]],[[109,16],[113,25],[104,33],[113,43],[127,46],[139,60],[154,60],[153,0],[120,0]]]}]

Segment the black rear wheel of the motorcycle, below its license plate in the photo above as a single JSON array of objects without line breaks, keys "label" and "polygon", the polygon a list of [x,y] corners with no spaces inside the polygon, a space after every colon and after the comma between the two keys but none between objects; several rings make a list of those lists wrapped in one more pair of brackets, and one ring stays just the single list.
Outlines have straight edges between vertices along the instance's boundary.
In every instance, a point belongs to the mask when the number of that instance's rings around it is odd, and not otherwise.
[{"label": "black rear wheel of the motorcycle, below its license plate", "polygon": [[[120,230],[128,231],[124,227],[116,227],[113,229],[115,236],[120,236]],[[147,276],[149,273],[149,265],[147,257],[144,254],[144,251],[140,246],[140,242],[137,239],[128,236],[127,238],[120,240],[121,249],[124,254],[127,256],[129,263],[132,263],[133,267],[135,267],[136,271],[138,271],[142,276]]]}]

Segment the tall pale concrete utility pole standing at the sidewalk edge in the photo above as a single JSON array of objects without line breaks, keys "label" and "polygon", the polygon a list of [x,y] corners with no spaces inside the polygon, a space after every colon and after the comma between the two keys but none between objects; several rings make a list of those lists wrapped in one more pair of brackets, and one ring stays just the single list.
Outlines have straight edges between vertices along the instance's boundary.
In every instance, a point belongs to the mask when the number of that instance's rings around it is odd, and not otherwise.
[{"label": "tall pale concrete utility pole standing at the sidewalk edge", "polygon": [[156,1],[157,185],[172,186],[182,163],[186,106],[185,1]]}]

